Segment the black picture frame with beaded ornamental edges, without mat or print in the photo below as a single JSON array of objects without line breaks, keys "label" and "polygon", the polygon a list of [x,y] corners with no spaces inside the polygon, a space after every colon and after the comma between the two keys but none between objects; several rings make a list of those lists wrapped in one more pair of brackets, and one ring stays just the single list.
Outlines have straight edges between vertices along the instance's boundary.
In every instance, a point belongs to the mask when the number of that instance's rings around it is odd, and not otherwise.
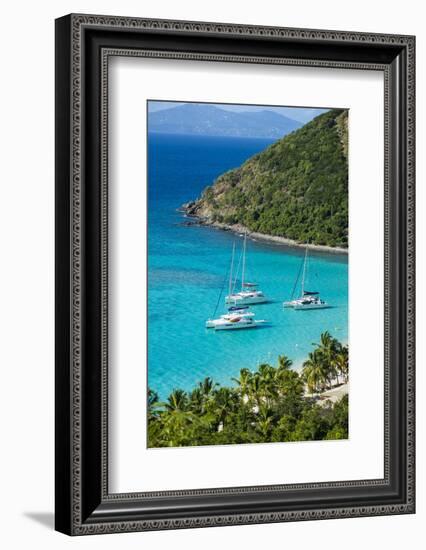
[{"label": "black picture frame with beaded ornamental edges, without mat or print", "polygon": [[[71,14],[56,20],[56,529],[69,535],[408,514],[414,500],[415,38]],[[110,55],[375,69],[385,80],[385,475],[108,493]]]}]

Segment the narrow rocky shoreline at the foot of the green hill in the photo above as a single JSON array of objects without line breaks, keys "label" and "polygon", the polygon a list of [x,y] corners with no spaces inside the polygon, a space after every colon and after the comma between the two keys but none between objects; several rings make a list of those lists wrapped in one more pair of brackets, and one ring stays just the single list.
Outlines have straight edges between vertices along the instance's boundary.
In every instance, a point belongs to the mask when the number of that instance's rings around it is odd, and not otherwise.
[{"label": "narrow rocky shoreline at the foot of the green hill", "polygon": [[267,241],[270,243],[275,243],[278,245],[283,245],[292,248],[306,248],[310,250],[315,250],[317,252],[327,252],[331,254],[341,254],[348,255],[347,248],[333,247],[320,244],[306,244],[294,241],[292,239],[287,239],[286,237],[278,237],[276,235],[266,235],[264,233],[257,233],[256,231],[250,231],[247,227],[244,227],[241,224],[229,225],[226,223],[212,222],[208,218],[202,218],[193,213],[193,210],[196,208],[196,202],[189,202],[183,204],[181,208],[178,208],[178,212],[181,212],[185,215],[186,218],[189,218],[188,221],[182,222],[182,225],[187,226],[206,226],[214,227],[216,229],[221,229],[222,231],[232,231],[233,233],[241,234],[247,233],[247,236],[251,239],[259,239]]}]

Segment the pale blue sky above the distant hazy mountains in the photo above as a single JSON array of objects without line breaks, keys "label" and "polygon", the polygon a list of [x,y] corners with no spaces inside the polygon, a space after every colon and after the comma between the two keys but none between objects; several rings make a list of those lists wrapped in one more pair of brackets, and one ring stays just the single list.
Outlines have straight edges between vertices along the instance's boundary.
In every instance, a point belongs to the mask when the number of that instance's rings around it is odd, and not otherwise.
[{"label": "pale blue sky above the distant hazy mountains", "polygon": [[[162,111],[164,109],[170,109],[172,107],[177,107],[179,105],[184,105],[182,102],[177,101],[149,101],[148,109],[150,113],[156,111]],[[328,109],[319,109],[316,107],[272,107],[269,105],[235,105],[235,104],[226,104],[226,103],[213,103],[215,107],[224,109],[226,111],[233,111],[235,113],[247,112],[247,111],[274,111],[278,114],[287,116],[299,122],[309,122],[314,117],[328,111]]]}]

